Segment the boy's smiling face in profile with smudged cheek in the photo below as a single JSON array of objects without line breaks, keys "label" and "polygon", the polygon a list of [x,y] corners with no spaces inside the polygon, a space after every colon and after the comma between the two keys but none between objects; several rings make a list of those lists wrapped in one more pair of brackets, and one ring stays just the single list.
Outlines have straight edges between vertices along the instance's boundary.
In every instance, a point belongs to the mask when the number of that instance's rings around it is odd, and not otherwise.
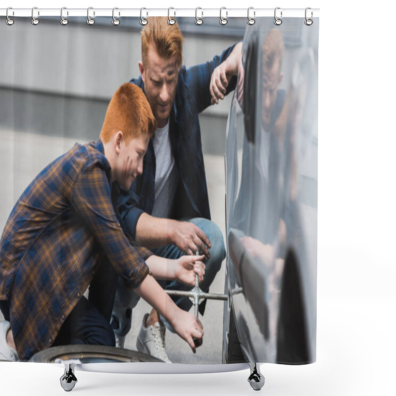
[{"label": "boy's smiling face in profile with smudged cheek", "polygon": [[117,155],[112,169],[113,179],[126,190],[129,190],[136,177],[143,173],[143,157],[148,141],[148,135],[141,135],[131,139],[129,143],[125,143],[123,137],[116,142]]}]

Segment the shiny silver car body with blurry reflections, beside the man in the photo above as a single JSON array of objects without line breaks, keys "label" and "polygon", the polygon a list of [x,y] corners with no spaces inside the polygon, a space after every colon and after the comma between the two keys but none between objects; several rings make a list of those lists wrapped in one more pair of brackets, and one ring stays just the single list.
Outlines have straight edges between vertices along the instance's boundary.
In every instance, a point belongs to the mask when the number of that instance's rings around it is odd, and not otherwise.
[{"label": "shiny silver car body with blurry reflections, beside the man", "polygon": [[[244,38],[226,147],[223,362],[316,360],[317,51],[262,24]],[[285,62],[287,59],[287,63]]]}]

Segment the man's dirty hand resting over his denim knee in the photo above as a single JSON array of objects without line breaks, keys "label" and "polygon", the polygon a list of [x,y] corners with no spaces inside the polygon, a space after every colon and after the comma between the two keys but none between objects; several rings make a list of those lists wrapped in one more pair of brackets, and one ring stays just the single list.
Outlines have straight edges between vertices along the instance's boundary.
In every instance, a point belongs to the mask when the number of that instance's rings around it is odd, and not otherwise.
[{"label": "man's dirty hand resting over his denim knee", "polygon": [[199,251],[210,257],[212,246],[205,233],[195,224],[188,221],[174,221],[172,224],[172,243],[185,254],[194,255]]}]

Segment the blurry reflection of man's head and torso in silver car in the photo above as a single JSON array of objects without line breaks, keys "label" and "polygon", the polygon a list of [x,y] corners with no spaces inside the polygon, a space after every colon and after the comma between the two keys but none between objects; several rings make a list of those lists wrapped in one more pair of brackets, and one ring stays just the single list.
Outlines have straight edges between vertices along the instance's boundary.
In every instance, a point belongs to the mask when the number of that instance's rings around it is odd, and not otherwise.
[{"label": "blurry reflection of man's head and torso in silver car", "polygon": [[[277,173],[280,166],[280,136],[275,133],[275,124],[285,101],[285,92],[279,89],[283,77],[283,49],[283,37],[279,30],[268,32],[261,47],[261,125],[256,125],[255,131],[245,131],[242,181],[230,224],[264,244],[272,244],[279,229],[283,230],[278,222],[278,213],[267,213],[268,206],[276,198],[269,197],[277,185],[277,179],[271,175]],[[249,141],[248,136],[254,136],[254,143]],[[260,219],[266,219],[266,224],[258,221],[258,213]],[[274,217],[278,219],[276,224],[273,224]]]}]

